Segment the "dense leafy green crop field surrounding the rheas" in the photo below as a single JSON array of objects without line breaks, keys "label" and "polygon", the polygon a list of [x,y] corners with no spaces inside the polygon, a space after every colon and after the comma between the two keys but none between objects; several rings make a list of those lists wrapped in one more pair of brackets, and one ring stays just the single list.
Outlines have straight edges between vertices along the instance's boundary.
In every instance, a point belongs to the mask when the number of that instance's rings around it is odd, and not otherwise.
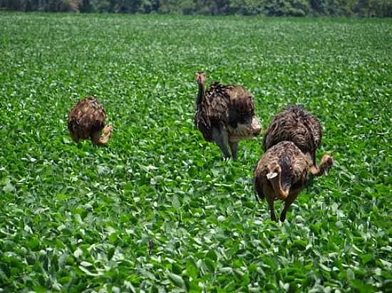
[{"label": "dense leafy green crop field surrounding the rheas", "polygon": [[[0,14],[0,292],[391,292],[392,21]],[[324,125],[285,223],[255,201],[262,137],[222,161],[195,71]],[[66,129],[95,95],[115,131]],[[279,213],[281,204],[277,203]]]}]

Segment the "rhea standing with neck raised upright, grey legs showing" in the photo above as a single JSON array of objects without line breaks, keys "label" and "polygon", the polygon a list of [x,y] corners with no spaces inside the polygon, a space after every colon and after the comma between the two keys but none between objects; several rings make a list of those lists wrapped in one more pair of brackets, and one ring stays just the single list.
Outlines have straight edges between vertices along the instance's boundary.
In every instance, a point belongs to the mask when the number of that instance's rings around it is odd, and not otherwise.
[{"label": "rhea standing with neck raised upright, grey legs showing", "polygon": [[[205,88],[205,73],[195,73],[199,87],[195,103],[195,126],[207,142],[215,142],[225,158],[237,159],[237,146],[242,139],[252,139],[262,131],[254,115],[250,92],[239,85],[218,82]],[[229,153],[231,149],[231,155]]]}]

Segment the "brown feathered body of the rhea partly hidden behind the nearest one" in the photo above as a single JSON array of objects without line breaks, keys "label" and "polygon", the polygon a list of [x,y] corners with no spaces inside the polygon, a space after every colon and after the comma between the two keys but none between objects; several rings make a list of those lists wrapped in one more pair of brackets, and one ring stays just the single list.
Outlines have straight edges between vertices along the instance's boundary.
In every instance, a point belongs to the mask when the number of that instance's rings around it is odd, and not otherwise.
[{"label": "brown feathered body of the rhea partly hidden behind the nearest one", "polygon": [[279,142],[294,142],[316,164],[316,149],[321,144],[319,119],[301,107],[289,106],[276,114],[263,137],[263,149],[267,151]]}]

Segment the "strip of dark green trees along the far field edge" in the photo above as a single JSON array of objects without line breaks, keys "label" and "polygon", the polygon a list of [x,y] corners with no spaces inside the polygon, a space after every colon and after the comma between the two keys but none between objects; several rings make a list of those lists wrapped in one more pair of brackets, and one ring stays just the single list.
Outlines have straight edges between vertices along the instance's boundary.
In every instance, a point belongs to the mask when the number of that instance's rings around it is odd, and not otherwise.
[{"label": "strip of dark green trees along the far field edge", "polygon": [[392,17],[392,0],[0,0],[0,10]]}]

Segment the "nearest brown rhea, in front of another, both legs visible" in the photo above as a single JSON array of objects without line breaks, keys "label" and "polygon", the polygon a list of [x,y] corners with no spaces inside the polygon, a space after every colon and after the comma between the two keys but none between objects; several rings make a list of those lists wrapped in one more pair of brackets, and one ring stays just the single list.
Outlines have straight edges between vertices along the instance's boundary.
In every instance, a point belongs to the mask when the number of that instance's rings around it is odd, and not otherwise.
[{"label": "nearest brown rhea, in front of another, both legs visible", "polygon": [[280,215],[283,222],[287,210],[306,186],[308,174],[328,174],[332,165],[331,156],[324,155],[319,166],[315,166],[293,142],[279,142],[269,148],[254,169],[254,189],[259,198],[266,198],[271,220],[277,221],[274,213],[275,199],[284,201]]}]

